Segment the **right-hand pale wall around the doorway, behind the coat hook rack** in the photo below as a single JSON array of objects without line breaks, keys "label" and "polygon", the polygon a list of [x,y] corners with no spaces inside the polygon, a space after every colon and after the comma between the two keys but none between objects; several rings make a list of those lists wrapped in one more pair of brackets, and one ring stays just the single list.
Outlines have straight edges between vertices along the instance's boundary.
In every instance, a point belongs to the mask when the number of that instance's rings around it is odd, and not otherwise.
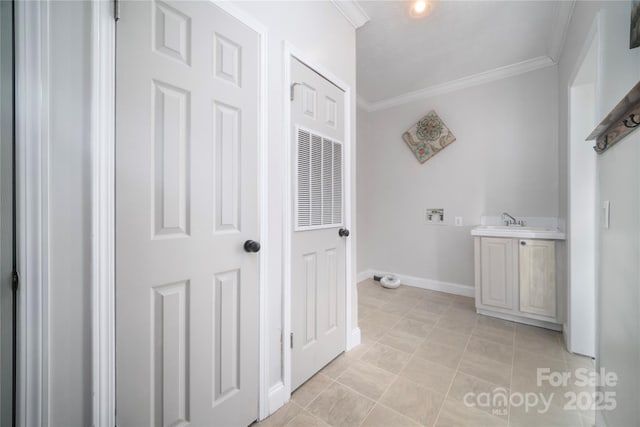
[{"label": "right-hand pale wall around the doorway, behind the coat hook rack", "polygon": [[[559,64],[560,210],[568,200],[568,88],[580,63],[585,40],[598,17],[596,120],[600,121],[637,82],[640,49],[629,49],[630,2],[576,2]],[[616,409],[599,416],[609,426],[639,425],[640,406],[640,133],[627,136],[597,156],[598,205],[611,203],[608,229],[597,243],[596,363],[617,373]]]}]

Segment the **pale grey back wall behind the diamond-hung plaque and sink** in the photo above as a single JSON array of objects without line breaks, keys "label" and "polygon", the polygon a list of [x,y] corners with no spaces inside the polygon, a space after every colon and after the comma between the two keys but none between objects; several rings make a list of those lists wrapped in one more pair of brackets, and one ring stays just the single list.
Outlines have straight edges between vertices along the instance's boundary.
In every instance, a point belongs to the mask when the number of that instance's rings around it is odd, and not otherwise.
[{"label": "pale grey back wall behind the diamond-hung plaque and sink", "polygon": [[[473,286],[481,215],[557,216],[557,96],[549,67],[363,114],[360,271]],[[457,139],[420,164],[402,133],[430,110]],[[426,208],[444,208],[447,225],[425,225]]]}]

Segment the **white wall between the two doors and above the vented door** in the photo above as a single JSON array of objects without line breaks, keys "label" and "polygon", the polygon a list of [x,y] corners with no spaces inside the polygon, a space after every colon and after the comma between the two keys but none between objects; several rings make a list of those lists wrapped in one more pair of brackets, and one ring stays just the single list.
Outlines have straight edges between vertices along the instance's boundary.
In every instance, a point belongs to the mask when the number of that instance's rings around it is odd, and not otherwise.
[{"label": "white wall between the two doors and above the vented door", "polygon": [[[289,165],[284,162],[284,135],[288,130],[282,126],[284,121],[282,102],[285,91],[283,86],[284,41],[290,42],[315,63],[322,65],[349,84],[355,91],[355,30],[330,2],[237,2],[236,6],[255,17],[267,27],[269,32],[268,382],[270,386],[277,386],[282,381],[280,338],[283,303],[284,174],[290,171]],[[320,33],[319,28],[330,29],[330,31]],[[349,108],[355,122],[355,101],[353,99]],[[353,153],[355,153],[355,129],[354,123],[351,129]],[[352,158],[354,157],[352,156]],[[355,174],[355,170],[352,172]],[[355,179],[353,182],[355,186]],[[352,231],[355,243],[357,234],[354,225],[352,224]],[[353,258],[355,259],[355,256]],[[284,260],[284,265],[286,268],[289,267],[288,260]]]}]

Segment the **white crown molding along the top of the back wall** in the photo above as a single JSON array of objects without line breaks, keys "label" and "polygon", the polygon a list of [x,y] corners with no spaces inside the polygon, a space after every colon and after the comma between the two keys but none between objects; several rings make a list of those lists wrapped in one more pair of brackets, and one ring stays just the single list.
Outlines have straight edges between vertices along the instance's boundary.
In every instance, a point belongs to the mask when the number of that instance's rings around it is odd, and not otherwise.
[{"label": "white crown molding along the top of the back wall", "polygon": [[408,92],[403,95],[394,96],[376,102],[368,102],[359,98],[358,105],[368,112],[384,110],[398,105],[403,105],[412,101],[430,98],[436,95],[442,95],[473,86],[479,86],[496,80],[506,79],[508,77],[525,74],[530,71],[539,70],[555,65],[548,56],[539,56],[537,58],[527,59],[526,61],[517,62],[515,64],[506,65],[504,67],[494,68],[493,70],[484,71],[482,73],[473,74],[457,80],[451,80],[435,86],[429,86],[424,89]]}]

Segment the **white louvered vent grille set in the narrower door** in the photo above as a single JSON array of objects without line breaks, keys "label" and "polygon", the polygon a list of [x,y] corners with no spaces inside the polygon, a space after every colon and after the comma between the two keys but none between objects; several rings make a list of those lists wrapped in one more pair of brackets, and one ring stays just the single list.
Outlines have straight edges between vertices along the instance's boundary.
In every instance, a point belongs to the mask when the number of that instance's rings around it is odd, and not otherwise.
[{"label": "white louvered vent grille set in the narrower door", "polygon": [[296,131],[296,230],[342,225],[342,144]]}]

